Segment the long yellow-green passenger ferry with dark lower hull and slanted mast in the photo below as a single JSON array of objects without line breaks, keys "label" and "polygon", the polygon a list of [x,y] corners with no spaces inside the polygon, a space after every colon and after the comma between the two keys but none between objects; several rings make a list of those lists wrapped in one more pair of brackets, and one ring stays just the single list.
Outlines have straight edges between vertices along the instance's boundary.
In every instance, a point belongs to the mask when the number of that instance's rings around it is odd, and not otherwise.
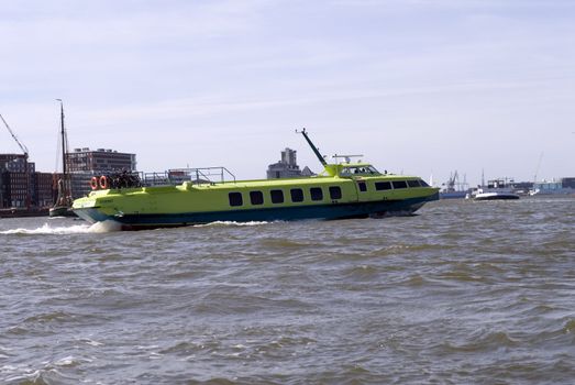
[{"label": "long yellow-green passenger ferry with dark lower hull and slanted mast", "polygon": [[[181,227],[215,221],[409,216],[439,199],[439,189],[417,176],[379,173],[363,162],[328,164],[301,131],[324,170],[312,177],[210,182],[198,177],[179,185],[110,186],[76,199],[74,212],[90,223],[112,220],[122,230]],[[224,168],[222,167],[222,175]],[[202,169],[193,169],[201,176]]]}]

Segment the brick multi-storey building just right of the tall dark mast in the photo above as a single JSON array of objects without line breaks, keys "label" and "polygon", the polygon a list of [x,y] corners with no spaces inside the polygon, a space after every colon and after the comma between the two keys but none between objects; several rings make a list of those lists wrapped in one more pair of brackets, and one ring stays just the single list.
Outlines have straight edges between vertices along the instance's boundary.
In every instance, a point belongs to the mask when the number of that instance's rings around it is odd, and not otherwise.
[{"label": "brick multi-storey building just right of the tall dark mast", "polygon": [[98,148],[91,151],[84,147],[66,153],[66,167],[71,179],[71,196],[76,199],[91,190],[90,179],[93,176],[124,169],[135,172],[136,158],[135,154],[120,153],[114,150]]}]

